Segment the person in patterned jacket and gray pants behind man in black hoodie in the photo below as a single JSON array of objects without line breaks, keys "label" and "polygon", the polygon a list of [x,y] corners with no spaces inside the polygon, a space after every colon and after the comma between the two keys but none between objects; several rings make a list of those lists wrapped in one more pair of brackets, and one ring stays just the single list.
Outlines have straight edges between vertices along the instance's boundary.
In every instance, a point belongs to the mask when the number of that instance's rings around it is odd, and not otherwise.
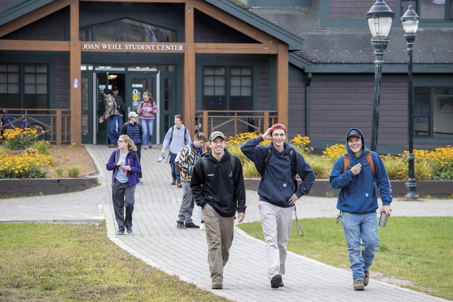
[{"label": "person in patterned jacket and gray pants behind man in black hoodie", "polygon": [[[199,228],[192,221],[193,206],[195,198],[190,190],[190,179],[192,178],[193,166],[197,163],[198,157],[203,152],[203,145],[206,143],[206,135],[202,132],[195,134],[193,142],[186,145],[179,154],[179,167],[181,168],[181,183],[183,185],[183,201],[179,209],[178,229]],[[185,222],[185,224],[184,224]]]}]

